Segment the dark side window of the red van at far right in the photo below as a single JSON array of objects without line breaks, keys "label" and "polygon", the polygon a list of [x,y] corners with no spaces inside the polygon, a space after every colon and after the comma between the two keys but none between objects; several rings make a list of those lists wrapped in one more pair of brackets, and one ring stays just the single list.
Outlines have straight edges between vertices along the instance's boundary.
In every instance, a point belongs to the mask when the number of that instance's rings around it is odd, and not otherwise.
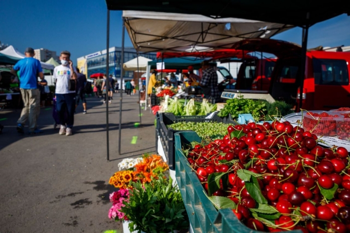
[{"label": "dark side window of the red van at far right", "polygon": [[313,59],[315,84],[348,85],[347,62],[338,59]]}]

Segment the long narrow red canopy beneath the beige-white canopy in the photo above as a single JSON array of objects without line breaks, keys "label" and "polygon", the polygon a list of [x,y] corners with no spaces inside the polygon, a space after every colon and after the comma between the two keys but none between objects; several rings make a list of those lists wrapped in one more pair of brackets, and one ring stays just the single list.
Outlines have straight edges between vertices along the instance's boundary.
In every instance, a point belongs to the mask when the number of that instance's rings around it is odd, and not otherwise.
[{"label": "long narrow red canopy beneath the beige-white canopy", "polygon": [[[247,55],[250,51],[244,51],[244,57],[250,58],[251,56]],[[235,49],[224,49],[224,50],[214,50],[207,52],[181,52],[181,53],[157,53],[157,58],[179,58],[179,57],[197,57],[197,58],[212,58],[216,59],[225,59],[225,58],[243,58],[242,50]]]}]

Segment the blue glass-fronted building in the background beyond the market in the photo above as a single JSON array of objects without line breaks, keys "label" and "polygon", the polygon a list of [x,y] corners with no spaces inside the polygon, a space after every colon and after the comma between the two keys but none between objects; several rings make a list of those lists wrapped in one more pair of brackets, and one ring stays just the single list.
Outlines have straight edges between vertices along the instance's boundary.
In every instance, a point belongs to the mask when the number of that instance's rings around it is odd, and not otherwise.
[{"label": "blue glass-fronted building in the background beyond the market", "polygon": [[[81,64],[81,67],[85,67],[83,65],[85,63],[84,59],[86,59],[87,65],[87,77],[95,73],[106,73],[106,50],[98,51],[96,53],[92,53],[86,55],[84,57],[80,57],[77,60],[78,64]],[[140,56],[149,58],[151,60],[156,59],[155,53],[149,54],[141,54]],[[124,48],[124,62],[130,61],[137,57],[136,50],[133,48]],[[120,78],[120,62],[121,61],[121,48],[112,47],[109,48],[109,72],[108,74],[112,74],[116,78]],[[79,66],[78,66],[79,67]],[[124,72],[123,78],[133,78],[133,72],[126,71]]]}]

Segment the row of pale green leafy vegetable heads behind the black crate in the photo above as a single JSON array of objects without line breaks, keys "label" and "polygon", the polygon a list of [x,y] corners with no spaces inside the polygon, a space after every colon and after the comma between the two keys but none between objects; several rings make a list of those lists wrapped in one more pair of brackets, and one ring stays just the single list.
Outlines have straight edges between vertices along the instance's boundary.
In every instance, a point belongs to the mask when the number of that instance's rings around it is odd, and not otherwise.
[{"label": "row of pale green leafy vegetable heads behind the black crate", "polygon": [[188,101],[184,99],[174,99],[167,98],[165,96],[164,102],[161,104],[161,112],[171,112],[176,116],[196,116],[196,115],[207,115],[216,111],[216,104],[211,104],[207,99],[203,99],[203,102],[196,102],[194,99]]}]

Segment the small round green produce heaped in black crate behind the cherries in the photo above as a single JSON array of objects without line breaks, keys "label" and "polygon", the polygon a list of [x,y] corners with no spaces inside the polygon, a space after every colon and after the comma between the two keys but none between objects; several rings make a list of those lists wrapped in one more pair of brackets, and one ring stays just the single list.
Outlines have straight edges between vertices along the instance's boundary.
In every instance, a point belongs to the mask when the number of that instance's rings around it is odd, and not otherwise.
[{"label": "small round green produce heaped in black crate behind the cherries", "polygon": [[221,122],[178,122],[168,125],[167,127],[174,130],[193,130],[200,137],[208,136],[211,138],[222,138],[227,134],[227,127],[229,125],[230,124],[224,124]]}]

